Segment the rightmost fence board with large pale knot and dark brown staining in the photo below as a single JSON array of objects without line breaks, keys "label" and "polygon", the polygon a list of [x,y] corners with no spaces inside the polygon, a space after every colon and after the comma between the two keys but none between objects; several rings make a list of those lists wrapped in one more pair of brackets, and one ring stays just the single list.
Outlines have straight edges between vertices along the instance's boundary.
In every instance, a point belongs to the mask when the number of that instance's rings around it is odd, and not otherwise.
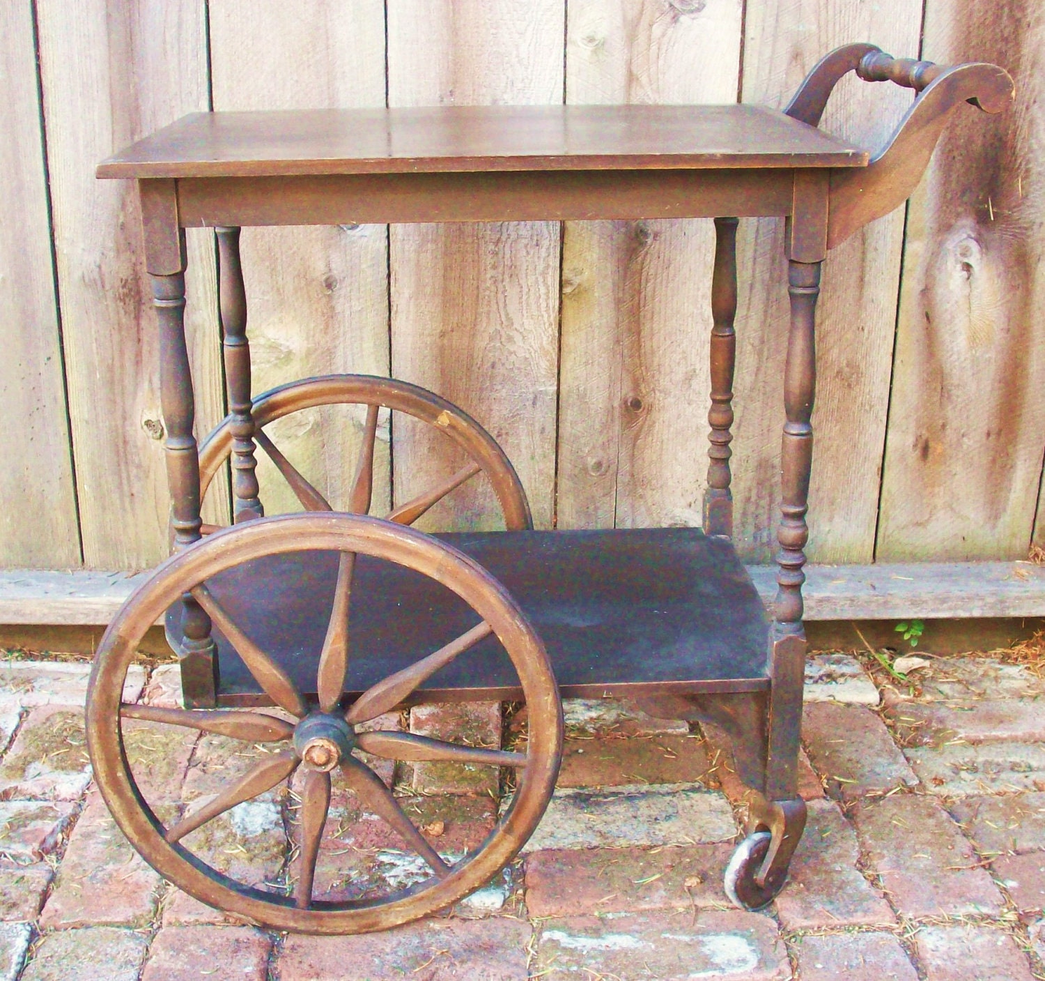
[{"label": "rightmost fence board with large pale knot and dark brown staining", "polygon": [[911,199],[878,557],[1026,554],[1045,449],[1045,10],[929,0],[923,54],[993,61],[999,116],[959,107]]}]

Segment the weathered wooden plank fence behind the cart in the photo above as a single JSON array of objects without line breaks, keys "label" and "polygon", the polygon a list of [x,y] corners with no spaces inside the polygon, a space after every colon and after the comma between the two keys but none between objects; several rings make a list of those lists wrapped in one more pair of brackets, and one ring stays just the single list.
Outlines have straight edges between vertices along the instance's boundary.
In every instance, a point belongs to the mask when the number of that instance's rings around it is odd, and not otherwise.
[{"label": "weathered wooden plank fence behind the cart", "polygon": [[[133,188],[93,173],[114,150],[211,108],[781,106],[850,41],[997,62],[1018,98],[955,113],[906,212],[827,263],[811,555],[1045,545],[1042,0],[5,0],[0,565],[138,569],[166,551],[139,219]],[[849,78],[823,126],[877,146],[910,97]],[[699,523],[711,241],[701,221],[247,230],[255,390],[391,371],[493,432],[539,526]],[[776,221],[741,223],[734,460],[751,561],[777,508],[781,242]],[[189,233],[201,435],[225,411],[214,254],[210,231]],[[280,446],[343,500],[362,418],[285,421]],[[442,465],[417,433],[382,436],[378,505]],[[289,509],[262,480],[270,510]],[[489,509],[466,495],[435,520],[482,526]],[[227,510],[214,488],[205,520]]]}]

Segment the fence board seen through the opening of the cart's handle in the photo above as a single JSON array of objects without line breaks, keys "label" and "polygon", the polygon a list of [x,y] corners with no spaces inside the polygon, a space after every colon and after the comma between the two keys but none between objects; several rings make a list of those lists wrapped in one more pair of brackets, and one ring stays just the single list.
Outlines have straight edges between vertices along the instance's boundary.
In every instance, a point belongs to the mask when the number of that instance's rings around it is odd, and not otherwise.
[{"label": "fence board seen through the opening of the cart's handle", "polygon": [[[868,41],[896,55],[918,53],[921,0],[789,0],[747,5],[742,97],[783,106],[832,48]],[[911,93],[849,76],[821,129],[874,149],[886,140]],[[736,541],[751,561],[769,558],[780,503],[782,365],[787,338],[783,222],[741,222],[734,442]],[[808,554],[813,562],[874,557],[889,398],[904,218],[867,226],[823,264],[817,310],[817,397]]]}]

